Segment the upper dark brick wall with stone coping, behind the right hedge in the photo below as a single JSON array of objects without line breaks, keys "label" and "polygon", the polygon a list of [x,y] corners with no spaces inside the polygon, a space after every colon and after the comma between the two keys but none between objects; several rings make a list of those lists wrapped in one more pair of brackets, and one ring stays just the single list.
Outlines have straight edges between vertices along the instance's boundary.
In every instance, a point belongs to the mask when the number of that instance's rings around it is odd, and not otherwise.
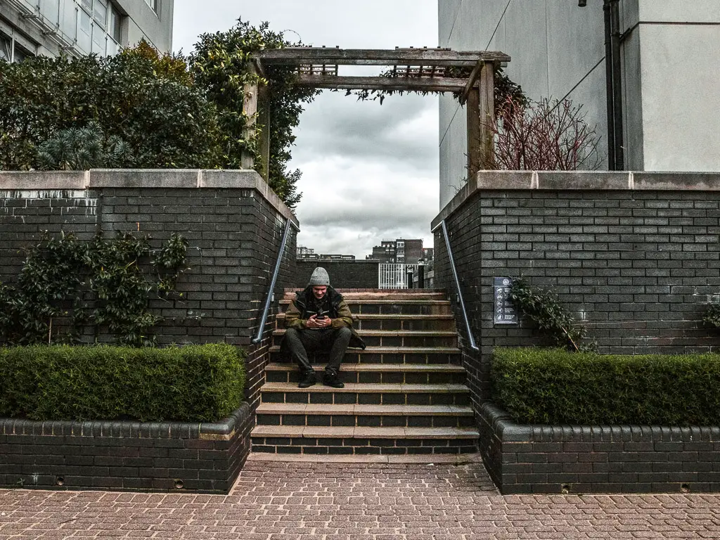
[{"label": "upper dark brick wall with stone coping, behind the right hedge", "polygon": [[[719,189],[720,175],[480,174],[433,221],[446,218],[480,346],[462,340],[476,410],[492,350],[542,342],[529,323],[493,325],[493,276],[551,287],[601,353],[716,351],[701,320],[720,294]],[[435,287],[452,291],[439,232],[435,248]]]}]

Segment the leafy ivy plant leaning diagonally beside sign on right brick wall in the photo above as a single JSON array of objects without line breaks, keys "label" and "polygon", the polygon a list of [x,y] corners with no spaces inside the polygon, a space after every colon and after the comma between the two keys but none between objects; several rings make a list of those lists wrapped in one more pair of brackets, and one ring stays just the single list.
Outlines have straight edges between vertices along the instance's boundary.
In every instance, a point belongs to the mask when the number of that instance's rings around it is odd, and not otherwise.
[{"label": "leafy ivy plant leaning diagonally beside sign on right brick wall", "polygon": [[583,348],[581,341],[586,328],[575,325],[570,310],[560,304],[556,294],[530,287],[524,279],[513,279],[509,297],[513,305],[532,320],[554,346],[575,351]]}]

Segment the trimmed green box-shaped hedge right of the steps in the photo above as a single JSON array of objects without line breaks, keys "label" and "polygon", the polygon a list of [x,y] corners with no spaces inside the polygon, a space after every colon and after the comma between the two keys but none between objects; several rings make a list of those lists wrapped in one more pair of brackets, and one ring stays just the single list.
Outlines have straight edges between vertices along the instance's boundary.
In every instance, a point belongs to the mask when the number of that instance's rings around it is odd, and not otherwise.
[{"label": "trimmed green box-shaped hedge right of the steps", "polygon": [[720,355],[497,348],[492,400],[518,423],[720,425]]}]

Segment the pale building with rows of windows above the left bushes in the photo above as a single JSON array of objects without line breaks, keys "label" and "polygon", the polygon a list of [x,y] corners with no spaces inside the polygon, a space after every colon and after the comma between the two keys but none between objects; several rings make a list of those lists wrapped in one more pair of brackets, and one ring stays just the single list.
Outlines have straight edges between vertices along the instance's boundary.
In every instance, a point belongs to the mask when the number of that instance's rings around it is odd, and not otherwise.
[{"label": "pale building with rows of windows above the left bushes", "polygon": [[0,0],[0,58],[114,55],[145,38],[173,41],[174,0]]}]

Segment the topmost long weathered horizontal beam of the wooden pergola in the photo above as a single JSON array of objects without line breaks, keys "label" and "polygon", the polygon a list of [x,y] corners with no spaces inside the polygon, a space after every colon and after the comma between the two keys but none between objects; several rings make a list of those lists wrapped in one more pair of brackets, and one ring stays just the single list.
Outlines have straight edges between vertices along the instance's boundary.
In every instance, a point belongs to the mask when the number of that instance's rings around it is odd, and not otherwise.
[{"label": "topmost long weathered horizontal beam of the wooden pergola", "polygon": [[265,65],[335,64],[342,66],[455,66],[474,67],[483,62],[509,62],[499,51],[448,49],[328,49],[294,47],[263,50],[254,55]]}]

